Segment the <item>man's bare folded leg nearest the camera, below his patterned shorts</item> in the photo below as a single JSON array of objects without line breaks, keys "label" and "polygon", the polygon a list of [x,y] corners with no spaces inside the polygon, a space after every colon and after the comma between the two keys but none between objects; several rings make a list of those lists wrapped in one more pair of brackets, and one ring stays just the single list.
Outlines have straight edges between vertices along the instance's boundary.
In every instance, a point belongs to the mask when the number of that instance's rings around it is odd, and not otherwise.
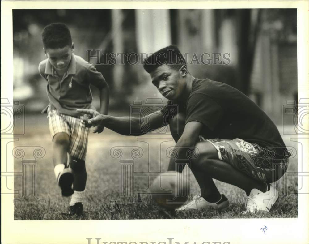
[{"label": "man's bare folded leg nearest the camera, below his patterned shorts", "polygon": [[194,169],[207,173],[211,178],[243,189],[247,196],[252,189],[258,189],[262,192],[267,190],[267,185],[264,182],[251,178],[229,163],[218,159],[218,151],[210,142],[198,142],[196,147],[200,156],[191,162]]}]

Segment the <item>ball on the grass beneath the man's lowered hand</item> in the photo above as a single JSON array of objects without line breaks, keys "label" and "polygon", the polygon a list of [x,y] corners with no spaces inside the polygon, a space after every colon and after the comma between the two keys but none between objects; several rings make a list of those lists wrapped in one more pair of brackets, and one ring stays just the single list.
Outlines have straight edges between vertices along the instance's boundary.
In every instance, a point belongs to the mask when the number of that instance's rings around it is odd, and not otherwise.
[{"label": "ball on the grass beneath the man's lowered hand", "polygon": [[182,206],[189,196],[188,176],[177,172],[164,172],[155,178],[150,186],[152,200],[167,209]]}]

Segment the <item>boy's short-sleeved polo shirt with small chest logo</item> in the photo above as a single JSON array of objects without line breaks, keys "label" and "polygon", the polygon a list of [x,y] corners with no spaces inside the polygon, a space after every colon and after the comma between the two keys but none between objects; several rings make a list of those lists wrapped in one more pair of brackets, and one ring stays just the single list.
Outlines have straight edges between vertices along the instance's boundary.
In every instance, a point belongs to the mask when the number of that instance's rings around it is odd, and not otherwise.
[{"label": "boy's short-sleeved polo shirt with small chest logo", "polygon": [[[103,75],[83,58],[72,54],[68,71],[59,77],[48,59],[39,64],[40,75],[47,80],[49,105],[58,113],[80,117],[76,109],[93,109],[90,84],[102,89],[106,85]],[[48,106],[42,111],[47,112]]]}]

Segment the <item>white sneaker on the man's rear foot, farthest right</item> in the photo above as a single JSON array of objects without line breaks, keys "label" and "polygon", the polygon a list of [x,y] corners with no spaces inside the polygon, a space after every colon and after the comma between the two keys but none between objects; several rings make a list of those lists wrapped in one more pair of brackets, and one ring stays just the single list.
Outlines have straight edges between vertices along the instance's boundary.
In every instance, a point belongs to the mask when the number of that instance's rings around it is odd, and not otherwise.
[{"label": "white sneaker on the man's rear foot, farthest right", "polygon": [[257,189],[252,189],[247,199],[247,212],[255,213],[256,211],[269,212],[273,204],[278,199],[278,191],[270,184],[270,189],[266,192],[261,192]]}]

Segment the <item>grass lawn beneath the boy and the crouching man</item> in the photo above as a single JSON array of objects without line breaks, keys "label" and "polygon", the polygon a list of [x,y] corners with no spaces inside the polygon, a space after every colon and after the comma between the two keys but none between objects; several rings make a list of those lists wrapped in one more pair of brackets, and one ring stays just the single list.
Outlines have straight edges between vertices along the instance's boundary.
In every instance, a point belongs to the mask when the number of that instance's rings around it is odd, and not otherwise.
[{"label": "grass lawn beneath the boy and the crouching man", "polygon": [[[291,128],[292,129],[292,128]],[[282,131],[282,130],[281,130]],[[283,137],[287,146],[297,148],[296,142],[290,142],[288,136]],[[22,199],[23,203],[14,204],[15,220],[63,220],[63,219],[158,219],[158,207],[147,193],[149,184],[155,176],[148,176],[145,172],[158,172],[167,169],[167,148],[175,145],[171,135],[143,135],[141,137],[122,136],[105,129],[101,134],[89,136],[88,152],[86,158],[87,186],[84,201],[85,214],[82,217],[67,215],[69,198],[61,197],[53,173],[52,141],[49,135],[48,120],[45,115],[26,117],[25,135],[15,142],[14,147],[23,148],[32,153],[32,148],[43,147],[46,155],[36,162],[36,197],[44,199],[44,203],[36,202],[35,197],[23,196],[21,177],[15,177],[14,189],[19,190],[15,199]],[[116,152],[111,149],[120,148],[122,156],[117,158]],[[130,152],[138,149],[142,154],[133,158]],[[30,151],[29,151],[30,150]],[[162,155],[162,157],[161,157]],[[120,156],[120,155],[118,155]],[[134,155],[133,155],[134,156]],[[161,158],[161,162],[160,162]],[[130,174],[122,175],[120,168],[125,165],[134,165],[133,178]],[[127,168],[125,172],[129,172]],[[290,159],[288,172],[298,170],[298,158]],[[22,172],[21,159],[15,159],[14,171]],[[144,174],[143,174],[144,172]],[[124,179],[123,188],[120,179]],[[298,195],[293,190],[298,189],[298,177],[284,177],[278,185],[279,199],[269,213],[243,214],[245,210],[246,195],[243,190],[229,184],[215,181],[218,189],[230,200],[230,206],[225,210],[214,209],[180,212],[179,219],[201,218],[297,218]],[[190,195],[198,195],[199,187],[192,173],[190,173]],[[128,187],[131,184],[132,187]],[[121,188],[121,189],[120,189]],[[137,191],[141,191],[137,193]],[[292,191],[292,192],[291,192]],[[34,200],[33,200],[34,199]],[[139,200],[141,199],[141,201]]]}]

